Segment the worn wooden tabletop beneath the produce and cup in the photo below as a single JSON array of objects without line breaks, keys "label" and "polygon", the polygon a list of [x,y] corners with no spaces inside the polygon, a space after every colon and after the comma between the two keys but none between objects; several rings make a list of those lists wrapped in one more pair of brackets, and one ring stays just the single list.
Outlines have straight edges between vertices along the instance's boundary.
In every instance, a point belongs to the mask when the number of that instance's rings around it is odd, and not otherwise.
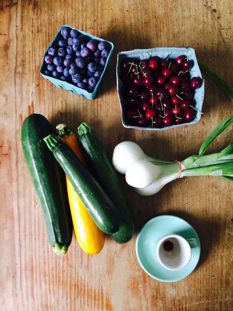
[{"label": "worn wooden tabletop beneath the produce and cup", "polygon": [[[97,255],[84,253],[73,234],[66,256],[53,253],[21,147],[21,126],[43,114],[53,128],[76,131],[86,121],[109,157],[124,140],[151,156],[183,160],[232,113],[231,100],[208,77],[205,114],[195,125],[167,131],[126,129],[116,87],[120,51],[192,47],[197,58],[232,85],[230,0],[133,1],[13,0],[0,2],[1,71],[1,311],[232,310],[232,185],[219,177],[175,180],[151,197],[137,195],[121,176],[136,224],[134,238],[117,244],[109,236]],[[39,74],[43,53],[62,24],[114,43],[114,53],[93,101],[57,88]],[[232,140],[228,128],[208,152]],[[165,283],[148,276],[135,253],[139,230],[151,218],[184,218],[201,241],[199,263],[185,279]]]}]

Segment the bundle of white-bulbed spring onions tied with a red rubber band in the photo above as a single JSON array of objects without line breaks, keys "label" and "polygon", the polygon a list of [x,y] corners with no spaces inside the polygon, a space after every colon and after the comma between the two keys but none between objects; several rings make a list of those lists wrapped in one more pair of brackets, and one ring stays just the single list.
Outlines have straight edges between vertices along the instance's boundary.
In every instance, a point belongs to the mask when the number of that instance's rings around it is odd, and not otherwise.
[{"label": "bundle of white-bulbed spring onions tied with a red rubber band", "polygon": [[167,162],[147,156],[134,142],[121,142],[113,152],[115,169],[141,195],[157,193],[170,181],[185,176],[212,175],[233,181],[233,142],[221,152],[203,155],[214,139],[233,122],[233,114],[220,123],[201,145],[198,155]]}]

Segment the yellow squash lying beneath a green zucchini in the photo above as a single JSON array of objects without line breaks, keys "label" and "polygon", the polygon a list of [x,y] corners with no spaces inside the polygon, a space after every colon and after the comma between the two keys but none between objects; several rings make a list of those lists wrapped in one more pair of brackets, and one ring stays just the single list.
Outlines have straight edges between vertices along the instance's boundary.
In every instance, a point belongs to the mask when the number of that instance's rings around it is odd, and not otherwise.
[{"label": "yellow squash lying beneath a green zucchini", "polygon": [[[76,154],[79,160],[86,166],[79,142],[75,134],[66,124],[57,125],[57,134]],[[71,216],[73,220],[76,238],[80,247],[88,254],[99,253],[105,243],[105,233],[101,231],[90,214],[86,210],[74,187],[66,176],[67,193],[70,203]]]}]

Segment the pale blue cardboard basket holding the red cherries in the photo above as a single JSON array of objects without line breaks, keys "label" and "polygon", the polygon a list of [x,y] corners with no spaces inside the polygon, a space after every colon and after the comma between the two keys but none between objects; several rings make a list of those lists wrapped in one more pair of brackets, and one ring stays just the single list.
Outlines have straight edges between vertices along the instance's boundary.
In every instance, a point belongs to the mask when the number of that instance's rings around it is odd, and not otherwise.
[{"label": "pale blue cardboard basket holding the red cherries", "polygon": [[[152,126],[147,126],[146,128],[137,127],[128,125],[125,121],[125,115],[124,115],[124,108],[122,106],[122,101],[124,102],[124,99],[122,97],[122,94],[124,92],[124,85],[120,79],[121,75],[121,60],[123,58],[138,58],[140,60],[142,59],[148,59],[153,56],[158,56],[160,58],[166,59],[167,56],[171,53],[171,59],[176,59],[180,55],[186,55],[188,53],[189,60],[193,60],[194,65],[192,67],[192,71],[190,72],[190,78],[192,77],[199,77],[202,80],[202,85],[195,90],[194,94],[194,102],[195,102],[195,108],[198,110],[196,113],[196,118],[189,123],[182,123],[179,125],[171,125],[171,126],[164,126],[164,128],[154,128]],[[141,130],[149,130],[149,131],[163,131],[167,130],[169,128],[178,128],[180,126],[189,125],[189,124],[195,124],[197,123],[201,118],[201,109],[204,99],[204,80],[202,79],[202,75],[197,63],[195,51],[192,48],[154,48],[154,49],[135,49],[132,51],[126,51],[126,52],[120,52],[117,54],[117,94],[120,101],[121,106],[121,120],[122,124],[125,128],[135,128],[135,129],[141,129]]]}]

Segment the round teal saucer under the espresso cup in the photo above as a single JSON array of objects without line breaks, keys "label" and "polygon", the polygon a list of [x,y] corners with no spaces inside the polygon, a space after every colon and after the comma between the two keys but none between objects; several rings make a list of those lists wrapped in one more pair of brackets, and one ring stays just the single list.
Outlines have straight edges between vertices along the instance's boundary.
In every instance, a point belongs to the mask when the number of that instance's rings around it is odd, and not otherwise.
[{"label": "round teal saucer under the espresso cup", "polygon": [[[192,255],[188,265],[179,271],[167,270],[156,257],[157,241],[171,233],[179,234],[185,239],[197,239],[199,244],[191,249]],[[149,276],[163,282],[180,281],[193,272],[199,261],[200,251],[200,240],[194,228],[184,219],[172,215],[157,216],[149,220],[136,240],[136,254],[141,267]]]}]

